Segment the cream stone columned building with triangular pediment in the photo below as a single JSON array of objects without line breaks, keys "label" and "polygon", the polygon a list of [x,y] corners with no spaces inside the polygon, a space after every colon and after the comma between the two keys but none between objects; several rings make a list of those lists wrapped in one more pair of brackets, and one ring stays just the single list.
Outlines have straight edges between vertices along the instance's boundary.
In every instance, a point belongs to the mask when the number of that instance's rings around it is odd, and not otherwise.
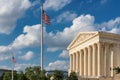
[{"label": "cream stone columned building with triangular pediment", "polygon": [[68,46],[70,69],[81,78],[112,80],[120,67],[120,35],[80,32]]}]

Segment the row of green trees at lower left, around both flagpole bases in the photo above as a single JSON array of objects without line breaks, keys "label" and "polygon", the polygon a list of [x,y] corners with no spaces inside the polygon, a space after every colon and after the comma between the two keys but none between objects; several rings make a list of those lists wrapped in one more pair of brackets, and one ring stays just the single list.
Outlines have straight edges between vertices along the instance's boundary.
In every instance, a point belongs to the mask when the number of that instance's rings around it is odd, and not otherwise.
[{"label": "row of green trees at lower left, around both flagpole bases", "polygon": [[[3,80],[11,80],[11,72],[6,72]],[[27,67],[25,72],[22,71],[15,73],[14,80],[50,80],[45,76],[45,71],[41,71],[40,67]]]}]

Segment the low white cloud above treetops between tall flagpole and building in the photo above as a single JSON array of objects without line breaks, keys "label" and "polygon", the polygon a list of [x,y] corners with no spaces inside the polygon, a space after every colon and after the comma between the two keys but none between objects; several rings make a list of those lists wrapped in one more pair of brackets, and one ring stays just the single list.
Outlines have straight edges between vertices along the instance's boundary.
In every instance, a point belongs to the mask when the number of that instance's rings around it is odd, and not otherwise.
[{"label": "low white cloud above treetops between tall flagpole and building", "polygon": [[65,71],[68,71],[68,68],[69,68],[68,61],[57,60],[55,62],[49,63],[49,65],[45,69],[46,70],[65,70]]}]

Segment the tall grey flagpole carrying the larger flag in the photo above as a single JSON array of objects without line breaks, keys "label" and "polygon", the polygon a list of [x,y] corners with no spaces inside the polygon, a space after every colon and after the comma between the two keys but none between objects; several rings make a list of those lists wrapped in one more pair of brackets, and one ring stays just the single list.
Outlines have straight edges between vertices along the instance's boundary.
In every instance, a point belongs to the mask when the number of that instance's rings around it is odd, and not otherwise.
[{"label": "tall grey flagpole carrying the larger flag", "polygon": [[43,2],[41,0],[41,71],[43,71]]}]

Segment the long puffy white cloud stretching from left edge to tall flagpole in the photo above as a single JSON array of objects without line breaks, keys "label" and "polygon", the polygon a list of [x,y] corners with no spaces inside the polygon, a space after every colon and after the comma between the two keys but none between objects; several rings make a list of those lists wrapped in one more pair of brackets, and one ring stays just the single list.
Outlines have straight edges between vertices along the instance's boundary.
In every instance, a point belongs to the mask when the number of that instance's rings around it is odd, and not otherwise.
[{"label": "long puffy white cloud stretching from left edge to tall flagpole", "polygon": [[40,25],[25,26],[23,34],[20,34],[8,46],[0,46],[0,53],[15,53],[16,51],[27,48],[35,47],[40,44]]}]

